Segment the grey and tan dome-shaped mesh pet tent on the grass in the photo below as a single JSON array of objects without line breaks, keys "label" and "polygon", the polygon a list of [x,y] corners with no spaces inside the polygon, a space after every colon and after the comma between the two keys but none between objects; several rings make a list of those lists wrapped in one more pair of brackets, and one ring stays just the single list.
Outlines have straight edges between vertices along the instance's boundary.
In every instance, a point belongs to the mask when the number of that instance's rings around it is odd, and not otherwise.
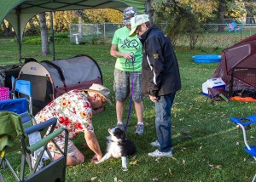
[{"label": "grey and tan dome-shaped mesh pet tent on the grass", "polygon": [[96,60],[84,54],[67,60],[28,62],[18,78],[32,82],[34,114],[69,90],[86,89],[92,83],[103,84]]}]

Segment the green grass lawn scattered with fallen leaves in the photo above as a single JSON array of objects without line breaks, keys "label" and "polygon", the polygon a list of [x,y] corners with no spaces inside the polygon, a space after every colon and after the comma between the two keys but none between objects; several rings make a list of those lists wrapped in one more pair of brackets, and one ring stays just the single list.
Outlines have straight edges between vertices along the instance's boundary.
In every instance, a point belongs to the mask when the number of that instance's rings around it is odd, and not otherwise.
[{"label": "green grass lawn scattered with fallen leaves", "polygon": [[[11,39],[0,39],[0,65],[17,63],[17,46]],[[51,60],[51,56],[39,57],[40,45],[23,45],[23,54],[36,60]],[[104,85],[112,90],[115,60],[109,55],[110,45],[55,45],[55,56],[69,58],[77,54],[88,54],[101,67]],[[90,162],[92,151],[83,148],[84,136],[74,139],[84,153],[85,162],[75,167],[67,167],[66,181],[251,181],[255,173],[253,157],[243,150],[241,131],[230,122],[230,117],[245,117],[255,113],[254,103],[218,102],[211,105],[201,94],[201,84],[212,76],[218,64],[195,63],[195,54],[221,54],[220,49],[189,50],[176,48],[177,60],[182,78],[182,89],[177,92],[172,107],[173,157],[160,159],[148,157],[154,151],[149,143],[156,139],[154,128],[154,104],[145,98],[142,136],[134,134],[137,124],[134,107],[127,129],[127,137],[137,145],[137,155],[128,159],[127,172],[121,169],[120,159],[111,159],[101,164]],[[127,100],[126,108],[128,108]],[[127,117],[125,110],[125,117]],[[125,121],[124,121],[125,122]],[[102,152],[106,151],[108,128],[116,123],[115,105],[107,105],[106,111],[93,117],[97,139]],[[255,137],[255,129],[248,131],[250,139]],[[254,139],[255,140],[255,139]],[[16,167],[20,160],[13,157]],[[1,170],[7,181],[9,171]]]}]

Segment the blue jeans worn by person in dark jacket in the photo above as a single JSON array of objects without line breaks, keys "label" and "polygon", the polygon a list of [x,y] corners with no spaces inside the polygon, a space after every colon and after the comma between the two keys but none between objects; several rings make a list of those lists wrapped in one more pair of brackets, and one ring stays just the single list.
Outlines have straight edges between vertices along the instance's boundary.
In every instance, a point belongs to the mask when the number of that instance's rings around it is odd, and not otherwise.
[{"label": "blue jeans worn by person in dark jacket", "polygon": [[172,150],[171,109],[175,94],[160,96],[159,101],[155,102],[155,128],[160,143],[158,150],[161,152]]}]

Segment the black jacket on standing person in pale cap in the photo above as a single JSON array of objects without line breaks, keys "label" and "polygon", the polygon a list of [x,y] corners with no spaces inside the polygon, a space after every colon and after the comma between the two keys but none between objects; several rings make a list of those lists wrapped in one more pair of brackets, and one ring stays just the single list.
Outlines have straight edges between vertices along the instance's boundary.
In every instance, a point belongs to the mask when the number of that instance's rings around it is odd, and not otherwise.
[{"label": "black jacket on standing person in pale cap", "polygon": [[177,58],[171,40],[157,26],[140,37],[143,43],[143,94],[162,96],[181,88]]}]

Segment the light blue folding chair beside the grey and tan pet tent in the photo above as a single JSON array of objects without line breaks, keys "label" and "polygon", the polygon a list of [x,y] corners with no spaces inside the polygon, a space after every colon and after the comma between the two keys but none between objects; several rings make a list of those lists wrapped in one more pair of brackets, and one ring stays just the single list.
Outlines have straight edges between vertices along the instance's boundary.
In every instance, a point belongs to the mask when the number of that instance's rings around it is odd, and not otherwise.
[{"label": "light blue folding chair beside the grey and tan pet tent", "polygon": [[[23,97],[23,94],[28,97],[29,101],[29,112],[32,114],[32,84],[27,80],[17,80],[15,77],[12,77],[12,92],[13,99],[19,99]],[[15,93],[16,92],[16,93]],[[17,96],[16,96],[17,95]]]}]

